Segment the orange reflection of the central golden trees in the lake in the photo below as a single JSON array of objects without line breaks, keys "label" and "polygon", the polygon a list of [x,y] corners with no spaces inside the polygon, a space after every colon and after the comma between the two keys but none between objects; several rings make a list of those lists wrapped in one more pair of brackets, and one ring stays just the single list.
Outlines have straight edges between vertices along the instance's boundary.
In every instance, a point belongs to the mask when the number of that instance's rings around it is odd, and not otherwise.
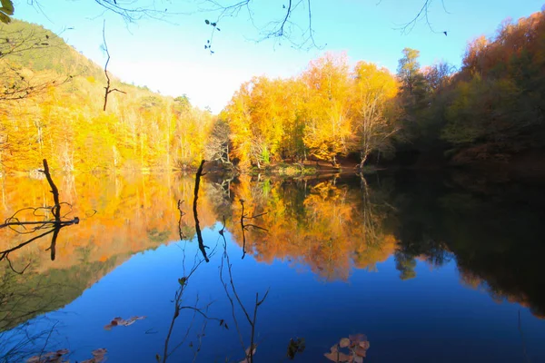
[{"label": "orange reflection of the central golden trees in the lake", "polygon": [[[386,260],[395,240],[382,229],[391,211],[381,193],[370,186],[358,188],[325,181],[252,180],[248,176],[233,183],[233,194],[243,199],[252,215],[268,232],[233,231],[235,240],[258,260],[275,258],[307,265],[327,279],[346,279],[352,263],[373,269]],[[233,213],[242,207],[233,203]]]}]

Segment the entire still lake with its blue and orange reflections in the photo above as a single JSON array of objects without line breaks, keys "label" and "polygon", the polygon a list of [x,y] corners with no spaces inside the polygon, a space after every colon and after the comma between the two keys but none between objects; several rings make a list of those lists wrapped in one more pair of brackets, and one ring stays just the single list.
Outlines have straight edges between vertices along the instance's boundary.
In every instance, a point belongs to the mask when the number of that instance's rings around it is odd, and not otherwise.
[{"label": "entire still lake with its blue and orange reflections", "polygon": [[[0,260],[0,361],[282,362],[303,338],[294,361],[328,362],[365,334],[365,362],[545,362],[539,184],[208,174],[200,245],[192,175],[54,179],[81,221],[54,260],[49,236]],[[3,218],[53,203],[0,182]],[[0,231],[0,254],[32,237]]]}]

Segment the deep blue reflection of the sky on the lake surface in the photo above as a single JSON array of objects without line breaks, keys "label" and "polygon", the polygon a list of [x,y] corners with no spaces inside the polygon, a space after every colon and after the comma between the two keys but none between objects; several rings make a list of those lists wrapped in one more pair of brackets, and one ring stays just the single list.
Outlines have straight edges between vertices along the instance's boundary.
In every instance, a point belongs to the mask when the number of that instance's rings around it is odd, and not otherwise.
[{"label": "deep blue reflection of the sky on the lake surface", "polygon": [[[226,233],[229,240],[229,234]],[[203,231],[213,250],[216,231]],[[199,361],[240,361],[242,348],[219,280],[222,242],[218,240],[210,263],[203,263],[189,281],[183,305],[200,306],[213,301],[208,314],[225,319],[229,330],[208,323]],[[371,341],[369,361],[499,362],[520,361],[522,342],[518,312],[532,361],[545,361],[545,320],[535,319],[518,304],[495,303],[480,290],[461,285],[455,261],[431,270],[418,261],[417,277],[400,280],[393,258],[379,263],[377,272],[352,270],[346,282],[324,282],[308,269],[289,262],[259,263],[228,242],[233,280],[243,302],[253,309],[255,293],[269,296],[258,312],[256,340],[260,362],[282,361],[290,338],[303,337],[307,349],[298,361],[324,361],[322,354],[348,334],[364,333]],[[49,314],[61,320],[57,327],[59,348],[73,351],[71,360],[90,358],[95,348],[107,348],[109,361],[154,361],[163,354],[163,342],[173,316],[173,297],[183,276],[183,243],[134,255],[123,265],[87,289],[84,294]],[[197,243],[187,243],[186,266],[191,268]],[[226,273],[226,270],[225,270]],[[130,327],[104,330],[110,319],[147,316]],[[171,347],[177,345],[193,312],[182,310],[176,320]],[[250,328],[239,311],[239,324],[249,344]],[[197,346],[195,334],[202,328],[196,319],[188,341]],[[238,359],[238,360],[237,360]],[[191,361],[187,343],[172,361]]]}]

